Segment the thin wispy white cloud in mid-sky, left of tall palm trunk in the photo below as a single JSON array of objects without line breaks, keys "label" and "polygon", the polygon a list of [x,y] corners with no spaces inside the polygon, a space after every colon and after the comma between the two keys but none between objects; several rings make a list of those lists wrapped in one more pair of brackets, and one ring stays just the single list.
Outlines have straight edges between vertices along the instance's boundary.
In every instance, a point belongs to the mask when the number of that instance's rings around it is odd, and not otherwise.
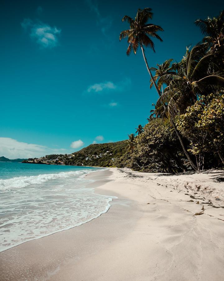
[{"label": "thin wispy white cloud in mid-sky, left of tall palm trunk", "polygon": [[131,80],[129,78],[126,78],[122,81],[119,81],[117,83],[114,83],[112,81],[106,81],[102,83],[96,83],[88,87],[87,92],[101,92],[105,90],[117,90],[117,91],[123,91],[131,85]]}]

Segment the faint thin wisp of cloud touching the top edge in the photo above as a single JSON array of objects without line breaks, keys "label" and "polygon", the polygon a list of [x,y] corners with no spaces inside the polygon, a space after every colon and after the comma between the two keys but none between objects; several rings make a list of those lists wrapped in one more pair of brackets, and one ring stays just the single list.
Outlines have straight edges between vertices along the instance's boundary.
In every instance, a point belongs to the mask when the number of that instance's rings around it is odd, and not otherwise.
[{"label": "faint thin wisp of cloud touching the top edge", "polygon": [[106,32],[112,26],[111,17],[103,17],[100,13],[98,3],[92,0],[86,0],[87,5],[90,7],[91,12],[94,12],[96,15],[96,23],[100,26],[101,32],[106,36]]}]

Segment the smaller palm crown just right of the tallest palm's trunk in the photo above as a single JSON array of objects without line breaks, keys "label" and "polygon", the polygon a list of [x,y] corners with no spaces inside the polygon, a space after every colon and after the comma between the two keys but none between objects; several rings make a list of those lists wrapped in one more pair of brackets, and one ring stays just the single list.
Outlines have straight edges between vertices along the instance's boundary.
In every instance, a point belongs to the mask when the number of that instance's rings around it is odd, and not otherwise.
[{"label": "smaller palm crown just right of the tallest palm's trunk", "polygon": [[[170,63],[173,59],[166,60],[162,64],[157,63],[157,67],[150,67],[150,70],[155,71],[153,76],[154,81],[157,82],[157,87],[159,90],[162,90],[163,94],[163,84],[169,85],[170,81],[173,79],[173,76],[176,75],[176,71],[173,71],[173,68],[170,67]],[[152,88],[153,82],[151,80],[150,88]]]}]

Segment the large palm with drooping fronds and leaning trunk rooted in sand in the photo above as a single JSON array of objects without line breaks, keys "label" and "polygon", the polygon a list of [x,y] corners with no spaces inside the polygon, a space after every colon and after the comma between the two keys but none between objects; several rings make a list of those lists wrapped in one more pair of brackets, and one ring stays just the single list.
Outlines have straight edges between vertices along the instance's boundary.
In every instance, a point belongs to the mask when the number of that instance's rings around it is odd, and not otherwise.
[{"label": "large palm with drooping fronds and leaning trunk rooted in sand", "polygon": [[[173,75],[170,84],[156,103],[156,113],[170,120],[194,170],[198,169],[184,146],[174,119],[177,114],[184,113],[188,106],[194,104],[202,93],[218,89],[224,84],[223,74],[220,71],[214,72],[217,66],[212,60],[213,54],[206,51],[207,49],[202,46],[195,46],[191,51],[187,48],[183,59],[173,64],[172,68],[176,69],[177,73]],[[163,78],[161,80],[164,81]]]}]

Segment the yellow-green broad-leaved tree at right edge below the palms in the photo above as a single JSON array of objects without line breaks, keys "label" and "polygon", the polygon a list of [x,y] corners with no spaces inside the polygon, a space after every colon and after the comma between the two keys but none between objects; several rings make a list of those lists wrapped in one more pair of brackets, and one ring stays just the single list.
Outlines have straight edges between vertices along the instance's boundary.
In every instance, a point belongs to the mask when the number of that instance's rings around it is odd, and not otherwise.
[{"label": "yellow-green broad-leaved tree at right edge below the palms", "polygon": [[[201,96],[177,121],[178,130],[190,141],[199,168],[210,168],[212,155],[224,160],[224,94]],[[206,161],[207,156],[208,161]],[[200,163],[200,164],[199,164]],[[219,164],[219,163],[218,163]],[[223,162],[224,164],[224,162]]]}]

